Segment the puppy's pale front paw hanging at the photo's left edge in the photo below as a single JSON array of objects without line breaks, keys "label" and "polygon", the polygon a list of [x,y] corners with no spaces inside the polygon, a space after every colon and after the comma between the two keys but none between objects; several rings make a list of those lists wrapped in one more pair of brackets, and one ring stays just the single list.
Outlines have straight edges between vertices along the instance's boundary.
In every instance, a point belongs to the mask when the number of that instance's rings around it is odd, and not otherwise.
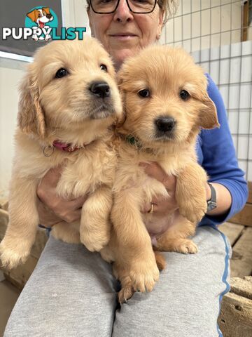
[{"label": "puppy's pale front paw hanging at the photo's left edge", "polygon": [[0,258],[3,267],[12,269],[20,263],[25,263],[29,256],[29,249],[25,249],[25,245],[18,244],[16,246],[7,244],[5,240],[0,244]]}]

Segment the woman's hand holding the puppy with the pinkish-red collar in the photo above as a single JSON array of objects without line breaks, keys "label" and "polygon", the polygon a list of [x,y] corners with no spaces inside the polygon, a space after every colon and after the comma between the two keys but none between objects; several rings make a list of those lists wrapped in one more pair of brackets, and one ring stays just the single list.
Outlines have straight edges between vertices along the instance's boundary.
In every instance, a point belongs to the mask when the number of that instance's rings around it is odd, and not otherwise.
[{"label": "woman's hand holding the puppy with the pinkish-red collar", "polygon": [[56,194],[56,187],[62,167],[50,169],[38,185],[38,214],[41,225],[52,227],[59,221],[71,223],[80,218],[81,208],[86,196],[77,199],[62,199]]}]

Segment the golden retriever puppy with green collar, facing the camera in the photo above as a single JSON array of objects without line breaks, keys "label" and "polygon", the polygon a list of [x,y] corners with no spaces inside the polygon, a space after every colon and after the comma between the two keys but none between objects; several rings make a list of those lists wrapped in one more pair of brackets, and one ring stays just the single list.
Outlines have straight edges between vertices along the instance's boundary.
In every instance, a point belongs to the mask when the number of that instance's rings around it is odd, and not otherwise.
[{"label": "golden retriever puppy with green collar, facing the camera", "polygon": [[[119,73],[125,122],[118,128],[118,168],[113,185],[113,237],[101,251],[113,260],[120,279],[120,303],[134,290],[151,291],[165,260],[156,251],[196,253],[188,239],[207,211],[207,174],[197,164],[195,142],[201,128],[219,126],[207,94],[207,78],[185,51],[151,46],[125,62]],[[157,162],[176,176],[179,211],[167,219],[141,213],[153,196],[168,197],[165,186],[139,166]],[[163,220],[160,221],[160,220]],[[156,224],[158,223],[158,225]],[[152,235],[150,235],[152,234]],[[152,237],[152,238],[151,238]],[[157,266],[158,264],[158,266]]]}]

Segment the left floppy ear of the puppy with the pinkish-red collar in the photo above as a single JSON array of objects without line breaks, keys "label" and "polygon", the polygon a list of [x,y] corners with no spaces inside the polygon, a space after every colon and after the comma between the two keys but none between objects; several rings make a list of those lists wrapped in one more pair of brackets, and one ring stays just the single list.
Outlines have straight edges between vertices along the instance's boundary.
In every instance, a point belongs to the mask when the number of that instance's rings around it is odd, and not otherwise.
[{"label": "left floppy ear of the puppy with the pinkish-red collar", "polygon": [[45,115],[39,103],[38,79],[31,72],[20,86],[18,126],[26,134],[45,136]]}]

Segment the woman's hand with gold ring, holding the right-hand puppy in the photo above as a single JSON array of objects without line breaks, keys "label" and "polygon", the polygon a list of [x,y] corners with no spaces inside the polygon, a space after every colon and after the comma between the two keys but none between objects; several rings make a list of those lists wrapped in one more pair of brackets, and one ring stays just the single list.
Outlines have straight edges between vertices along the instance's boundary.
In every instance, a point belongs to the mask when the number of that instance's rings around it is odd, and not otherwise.
[{"label": "woman's hand with gold ring, holding the right-hand puppy", "polygon": [[[167,192],[169,193],[168,198],[163,197],[153,197],[151,201],[153,203],[153,212],[159,213],[160,216],[162,214],[165,216],[167,213],[173,213],[176,209],[179,208],[176,199],[175,199],[175,190],[176,190],[176,177],[175,176],[167,176],[167,173],[155,162],[151,164],[140,163],[139,166],[144,168],[144,171],[151,178],[155,178],[160,181]],[[144,205],[142,212],[148,213],[151,210],[151,204]]]}]

